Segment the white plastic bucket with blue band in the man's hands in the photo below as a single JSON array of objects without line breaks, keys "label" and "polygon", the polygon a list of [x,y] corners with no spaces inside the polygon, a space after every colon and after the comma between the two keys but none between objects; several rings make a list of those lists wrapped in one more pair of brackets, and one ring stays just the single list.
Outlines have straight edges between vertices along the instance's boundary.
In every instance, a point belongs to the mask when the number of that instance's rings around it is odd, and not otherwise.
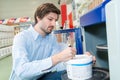
[{"label": "white plastic bucket with blue band in the man's hands", "polygon": [[92,77],[92,56],[76,55],[66,65],[69,79],[86,80]]}]

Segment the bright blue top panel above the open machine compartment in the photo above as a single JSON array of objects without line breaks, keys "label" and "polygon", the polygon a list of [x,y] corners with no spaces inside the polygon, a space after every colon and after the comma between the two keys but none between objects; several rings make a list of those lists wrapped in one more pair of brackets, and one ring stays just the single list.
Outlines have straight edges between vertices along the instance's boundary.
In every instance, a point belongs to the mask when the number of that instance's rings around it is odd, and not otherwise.
[{"label": "bright blue top panel above the open machine compartment", "polygon": [[89,11],[88,13],[84,14],[80,17],[80,25],[82,27],[105,22],[105,5],[110,0],[105,0],[101,5],[94,8],[93,10]]}]

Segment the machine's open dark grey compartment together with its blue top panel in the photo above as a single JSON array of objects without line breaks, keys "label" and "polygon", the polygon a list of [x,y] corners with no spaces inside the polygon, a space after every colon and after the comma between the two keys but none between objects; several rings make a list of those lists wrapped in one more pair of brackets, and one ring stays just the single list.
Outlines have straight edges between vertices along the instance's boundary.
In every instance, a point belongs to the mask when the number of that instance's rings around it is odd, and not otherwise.
[{"label": "machine's open dark grey compartment together with its blue top panel", "polygon": [[[105,6],[110,0],[105,0],[99,6],[80,17],[83,32],[84,51],[96,56],[97,67],[109,69],[107,52]],[[106,46],[105,46],[106,45]],[[103,48],[106,48],[103,49]]]}]

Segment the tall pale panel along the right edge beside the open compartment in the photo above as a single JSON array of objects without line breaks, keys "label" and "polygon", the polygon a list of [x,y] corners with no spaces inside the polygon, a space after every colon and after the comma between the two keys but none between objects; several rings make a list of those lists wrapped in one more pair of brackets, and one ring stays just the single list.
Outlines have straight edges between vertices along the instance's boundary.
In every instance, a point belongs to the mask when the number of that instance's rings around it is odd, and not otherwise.
[{"label": "tall pale panel along the right edge beside the open compartment", "polygon": [[120,0],[106,5],[110,80],[120,80]]}]

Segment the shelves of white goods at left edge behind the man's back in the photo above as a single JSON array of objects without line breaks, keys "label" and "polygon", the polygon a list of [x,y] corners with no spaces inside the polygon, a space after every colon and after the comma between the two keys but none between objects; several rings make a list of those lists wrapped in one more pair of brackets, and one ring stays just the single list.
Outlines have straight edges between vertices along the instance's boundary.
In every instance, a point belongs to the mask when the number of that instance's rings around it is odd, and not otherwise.
[{"label": "shelves of white goods at left edge behind the man's back", "polygon": [[0,59],[12,53],[14,27],[0,25]]}]

